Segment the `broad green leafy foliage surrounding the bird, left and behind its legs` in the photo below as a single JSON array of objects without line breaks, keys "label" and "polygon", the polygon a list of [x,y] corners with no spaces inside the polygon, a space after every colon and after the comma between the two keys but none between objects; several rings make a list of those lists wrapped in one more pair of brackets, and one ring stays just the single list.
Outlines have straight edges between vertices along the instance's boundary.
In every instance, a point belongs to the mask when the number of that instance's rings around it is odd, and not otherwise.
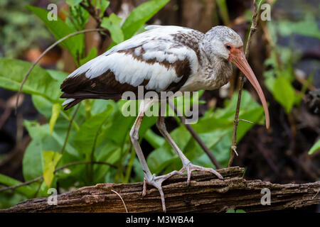
[{"label": "broad green leafy foliage surrounding the bird, left and behind its legs", "polygon": [[[134,9],[122,23],[115,14],[102,20],[102,26],[110,30],[114,44],[130,38],[141,31],[144,23],[161,9],[169,0],[148,1]],[[80,9],[80,1],[67,1],[70,13],[66,21],[50,23],[44,18],[46,10],[28,6],[46,24],[48,30],[56,39],[78,31],[87,21],[87,13]],[[99,9],[106,9],[107,1],[100,1]],[[102,14],[101,14],[102,15]],[[80,17],[80,18],[79,18]],[[79,65],[96,57],[97,50],[84,56],[83,35],[74,36],[62,43],[73,55]],[[0,86],[17,91],[23,75],[31,64],[21,60],[0,59]],[[100,182],[137,182],[142,181],[142,170],[129,139],[129,131],[135,117],[125,117],[121,114],[127,101],[120,100],[87,100],[82,101],[68,132],[70,119],[75,109],[63,111],[60,104],[60,84],[67,76],[65,72],[44,70],[35,67],[31,72],[22,92],[31,94],[33,105],[45,116],[48,123],[24,121],[24,126],[32,140],[23,156],[23,177],[26,181],[43,176],[43,180],[33,182],[28,186],[18,187],[14,192],[0,192],[0,207],[11,206],[17,201],[33,196],[48,196],[49,187],[70,190]],[[202,93],[201,93],[202,94]],[[179,98],[181,99],[181,98]],[[230,144],[233,131],[233,117],[237,95],[225,101],[223,109],[210,109],[192,127],[206,143],[221,165],[226,166],[230,155]],[[183,106],[178,106],[182,109]],[[240,118],[253,123],[263,122],[263,108],[243,91]],[[178,118],[177,118],[178,121]],[[174,153],[169,143],[151,131],[156,123],[156,117],[145,117],[139,131],[141,140],[146,140],[154,150],[149,154],[147,162],[151,172],[160,174],[181,167],[181,161]],[[252,124],[240,121],[238,140],[252,128]],[[69,133],[69,134],[68,134]],[[66,140],[68,135],[68,140]],[[196,165],[213,167],[206,153],[196,143],[186,128],[179,123],[178,128],[171,132],[178,146]],[[57,167],[74,163],[91,162],[90,165],[70,165],[63,170]],[[108,165],[95,165],[94,162],[105,162]],[[20,184],[10,177],[0,175],[0,183],[13,186]],[[5,199],[6,198],[6,199]]]}]

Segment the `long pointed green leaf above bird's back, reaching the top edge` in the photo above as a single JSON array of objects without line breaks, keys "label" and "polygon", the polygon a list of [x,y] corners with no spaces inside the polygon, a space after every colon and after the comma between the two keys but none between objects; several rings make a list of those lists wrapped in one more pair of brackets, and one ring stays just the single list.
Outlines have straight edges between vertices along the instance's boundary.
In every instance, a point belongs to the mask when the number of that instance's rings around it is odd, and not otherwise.
[{"label": "long pointed green leaf above bird's back, reaching the top edge", "polygon": [[131,38],[146,21],[162,9],[170,0],[147,1],[134,9],[122,25],[124,40]]}]

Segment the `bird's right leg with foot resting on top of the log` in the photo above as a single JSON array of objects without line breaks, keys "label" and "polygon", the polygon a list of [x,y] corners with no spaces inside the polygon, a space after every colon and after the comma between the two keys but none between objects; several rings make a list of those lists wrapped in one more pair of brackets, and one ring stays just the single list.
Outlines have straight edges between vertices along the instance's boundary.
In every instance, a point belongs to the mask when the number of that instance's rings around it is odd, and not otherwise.
[{"label": "bird's right leg with foot resting on top of the log", "polygon": [[187,172],[187,184],[190,184],[190,179],[191,179],[191,172],[193,170],[199,170],[199,171],[206,171],[206,172],[212,172],[214,175],[219,177],[220,179],[223,179],[223,176],[220,175],[217,171],[213,170],[212,168],[206,168],[206,167],[201,167],[198,165],[193,165],[190,160],[186,157],[186,155],[183,155],[182,151],[180,148],[178,148],[178,145],[174,142],[174,140],[171,138],[171,135],[166,131],[166,124],[164,123],[164,116],[159,116],[158,120],[156,121],[156,126],[159,129],[160,133],[166,138],[166,140],[170,143],[171,147],[174,148],[174,151],[180,157],[183,167],[179,172],[186,171]]}]

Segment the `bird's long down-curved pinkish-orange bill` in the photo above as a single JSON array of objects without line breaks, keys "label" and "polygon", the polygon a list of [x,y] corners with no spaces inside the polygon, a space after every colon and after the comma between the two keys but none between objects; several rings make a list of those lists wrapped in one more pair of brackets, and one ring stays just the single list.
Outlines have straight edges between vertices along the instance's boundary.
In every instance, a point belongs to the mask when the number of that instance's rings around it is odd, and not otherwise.
[{"label": "bird's long down-curved pinkish-orange bill", "polygon": [[262,92],[262,89],[260,87],[259,82],[257,81],[257,77],[255,77],[255,74],[252,72],[252,69],[250,65],[248,64],[247,60],[245,59],[245,54],[243,53],[243,48],[235,48],[233,51],[230,51],[230,62],[233,62],[243,74],[245,74],[245,77],[249,79],[252,86],[257,91],[257,94],[259,95],[260,101],[262,103],[263,109],[265,109],[265,126],[267,128],[270,127],[270,117],[269,117],[269,111],[267,106],[267,101],[265,101],[265,95]]}]

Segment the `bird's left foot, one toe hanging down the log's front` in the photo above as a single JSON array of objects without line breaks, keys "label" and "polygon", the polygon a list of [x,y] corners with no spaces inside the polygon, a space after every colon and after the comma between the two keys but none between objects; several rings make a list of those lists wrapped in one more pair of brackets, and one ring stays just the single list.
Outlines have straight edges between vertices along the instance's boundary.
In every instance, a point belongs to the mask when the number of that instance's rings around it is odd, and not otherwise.
[{"label": "bird's left foot, one toe hanging down the log's front", "polygon": [[164,191],[162,190],[162,182],[164,182],[166,179],[168,179],[169,177],[176,175],[176,174],[179,174],[179,172],[174,170],[167,175],[161,175],[158,177],[156,177],[156,175],[152,175],[151,179],[144,177],[144,187],[142,190],[142,197],[144,197],[146,195],[146,184],[150,184],[150,185],[156,187],[156,189],[158,189],[160,196],[161,196],[162,209],[164,212],[166,212],[166,203],[164,201]]}]

